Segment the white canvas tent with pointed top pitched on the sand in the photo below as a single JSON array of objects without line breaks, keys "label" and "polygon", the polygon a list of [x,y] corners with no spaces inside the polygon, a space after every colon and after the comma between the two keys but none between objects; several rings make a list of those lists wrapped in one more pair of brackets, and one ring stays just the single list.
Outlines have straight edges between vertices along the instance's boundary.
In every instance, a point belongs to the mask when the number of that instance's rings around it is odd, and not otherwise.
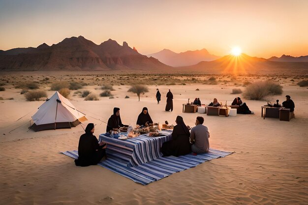
[{"label": "white canvas tent with pointed top pitched on the sand", "polygon": [[32,116],[35,132],[48,129],[71,128],[87,120],[85,114],[77,111],[68,99],[58,91],[46,100]]}]

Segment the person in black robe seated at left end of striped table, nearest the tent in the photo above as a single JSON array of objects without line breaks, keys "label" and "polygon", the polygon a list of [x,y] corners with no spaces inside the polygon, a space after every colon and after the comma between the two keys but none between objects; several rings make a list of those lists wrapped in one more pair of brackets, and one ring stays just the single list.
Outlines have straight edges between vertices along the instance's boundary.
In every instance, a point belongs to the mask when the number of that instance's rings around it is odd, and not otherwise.
[{"label": "person in black robe seated at left end of striped table, nearest the tent", "polygon": [[105,156],[106,143],[98,143],[93,135],[94,124],[89,123],[86,127],[86,133],[80,136],[78,144],[78,159],[75,159],[75,165],[87,167],[96,165]]}]

